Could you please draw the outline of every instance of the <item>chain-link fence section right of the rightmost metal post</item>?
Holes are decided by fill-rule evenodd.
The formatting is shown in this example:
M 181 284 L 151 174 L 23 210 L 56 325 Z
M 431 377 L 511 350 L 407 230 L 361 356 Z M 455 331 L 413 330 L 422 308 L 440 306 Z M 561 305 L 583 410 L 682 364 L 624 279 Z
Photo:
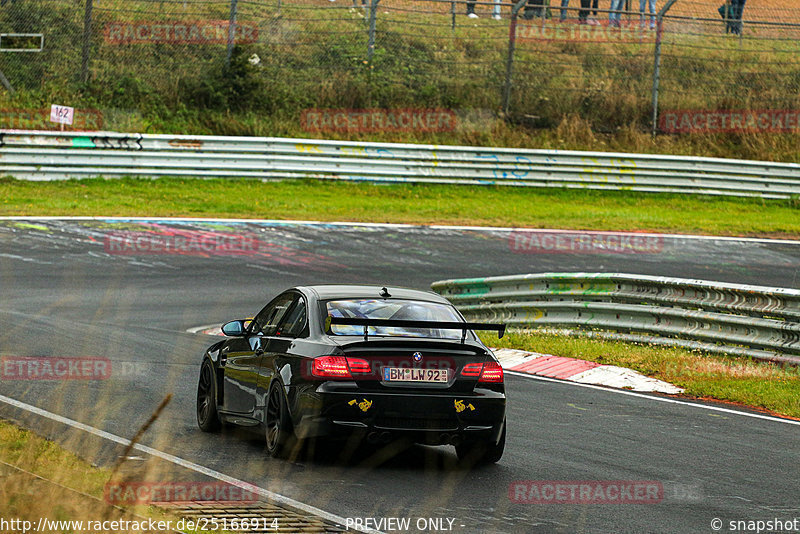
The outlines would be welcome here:
M 740 20 L 719 4 L 679 0 L 664 17 L 657 128 L 797 132 L 800 5 L 750 0 Z

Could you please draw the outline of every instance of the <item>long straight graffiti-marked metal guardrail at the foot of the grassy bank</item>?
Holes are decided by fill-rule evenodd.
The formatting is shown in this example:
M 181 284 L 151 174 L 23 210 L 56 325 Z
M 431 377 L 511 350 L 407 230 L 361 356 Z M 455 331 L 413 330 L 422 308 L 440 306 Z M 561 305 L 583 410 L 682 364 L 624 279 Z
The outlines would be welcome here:
M 317 178 L 788 198 L 800 165 L 652 154 L 272 137 L 0 131 L 0 174 Z

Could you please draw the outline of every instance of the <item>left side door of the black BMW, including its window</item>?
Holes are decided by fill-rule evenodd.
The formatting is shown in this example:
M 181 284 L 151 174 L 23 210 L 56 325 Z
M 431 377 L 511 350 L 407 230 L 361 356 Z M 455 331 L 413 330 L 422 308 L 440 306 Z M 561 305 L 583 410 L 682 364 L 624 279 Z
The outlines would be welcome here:
M 227 353 L 223 354 L 223 409 L 226 412 L 252 414 L 255 410 L 259 370 L 269 336 L 277 331 L 294 300 L 292 293 L 278 296 L 255 316 L 245 336 L 228 343 Z

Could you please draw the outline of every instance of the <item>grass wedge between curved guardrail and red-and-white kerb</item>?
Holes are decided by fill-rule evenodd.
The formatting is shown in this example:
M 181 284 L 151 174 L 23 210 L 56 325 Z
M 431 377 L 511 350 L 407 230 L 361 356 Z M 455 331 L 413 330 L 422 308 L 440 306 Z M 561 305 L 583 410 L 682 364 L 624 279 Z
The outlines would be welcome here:
M 481 335 L 489 346 L 580 358 L 618 365 L 664 380 L 692 397 L 712 398 L 800 418 L 800 368 L 707 354 L 674 347 L 509 332 L 503 339 Z

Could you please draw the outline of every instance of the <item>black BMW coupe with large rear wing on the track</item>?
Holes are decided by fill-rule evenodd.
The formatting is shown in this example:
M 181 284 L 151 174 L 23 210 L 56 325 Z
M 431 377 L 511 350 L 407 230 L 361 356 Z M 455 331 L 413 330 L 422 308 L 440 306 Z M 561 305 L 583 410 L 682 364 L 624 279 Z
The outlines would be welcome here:
M 203 356 L 197 423 L 261 427 L 271 456 L 305 439 L 363 436 L 453 445 L 497 462 L 506 439 L 503 369 L 434 293 L 319 285 L 284 291 L 222 326 Z

